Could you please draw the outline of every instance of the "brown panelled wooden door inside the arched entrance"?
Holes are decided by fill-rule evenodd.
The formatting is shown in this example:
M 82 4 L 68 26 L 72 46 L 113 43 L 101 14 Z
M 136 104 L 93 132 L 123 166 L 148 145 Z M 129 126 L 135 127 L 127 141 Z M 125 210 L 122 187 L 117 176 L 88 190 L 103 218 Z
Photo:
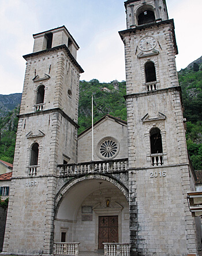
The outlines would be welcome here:
M 102 243 L 118 243 L 118 216 L 99 216 L 98 249 Z

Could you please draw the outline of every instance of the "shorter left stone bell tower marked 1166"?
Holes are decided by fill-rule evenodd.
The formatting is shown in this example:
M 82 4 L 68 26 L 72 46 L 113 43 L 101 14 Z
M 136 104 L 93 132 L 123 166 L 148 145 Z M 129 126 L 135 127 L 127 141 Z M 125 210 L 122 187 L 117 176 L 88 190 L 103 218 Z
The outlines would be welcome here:
M 21 101 L 4 254 L 51 254 L 57 164 L 77 161 L 78 45 L 63 27 L 33 35 Z

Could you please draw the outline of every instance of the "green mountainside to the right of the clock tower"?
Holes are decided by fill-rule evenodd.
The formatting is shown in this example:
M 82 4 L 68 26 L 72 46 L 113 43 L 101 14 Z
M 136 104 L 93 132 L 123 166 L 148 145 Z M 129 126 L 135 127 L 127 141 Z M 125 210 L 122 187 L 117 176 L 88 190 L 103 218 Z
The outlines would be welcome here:
M 202 57 L 178 72 L 182 87 L 186 142 L 195 170 L 202 169 Z

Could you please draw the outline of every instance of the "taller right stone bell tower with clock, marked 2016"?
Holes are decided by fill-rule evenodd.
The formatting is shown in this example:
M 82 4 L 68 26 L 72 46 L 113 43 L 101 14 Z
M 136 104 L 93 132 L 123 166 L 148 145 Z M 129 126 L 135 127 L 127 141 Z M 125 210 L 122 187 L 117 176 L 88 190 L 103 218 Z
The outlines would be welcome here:
M 165 0 L 125 2 L 130 256 L 197 255 L 174 21 Z

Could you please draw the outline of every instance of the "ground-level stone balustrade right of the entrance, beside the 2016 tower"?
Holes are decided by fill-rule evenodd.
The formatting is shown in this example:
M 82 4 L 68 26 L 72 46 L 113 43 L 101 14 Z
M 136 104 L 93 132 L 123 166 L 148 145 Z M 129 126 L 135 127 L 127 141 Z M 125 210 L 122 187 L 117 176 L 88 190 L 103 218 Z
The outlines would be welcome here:
M 104 255 L 107 256 L 129 256 L 129 243 L 103 243 Z

